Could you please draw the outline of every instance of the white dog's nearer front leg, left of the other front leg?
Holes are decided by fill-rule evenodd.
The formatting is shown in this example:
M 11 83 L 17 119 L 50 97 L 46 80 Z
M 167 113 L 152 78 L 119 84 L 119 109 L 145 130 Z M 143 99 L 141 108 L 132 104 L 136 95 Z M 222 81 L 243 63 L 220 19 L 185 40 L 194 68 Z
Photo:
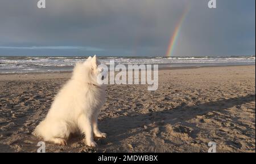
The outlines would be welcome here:
M 93 141 L 93 130 L 92 130 L 92 122 L 91 119 L 86 117 L 85 115 L 81 115 L 77 119 L 78 126 L 82 133 L 85 135 L 86 145 L 91 147 L 96 147 L 97 144 Z

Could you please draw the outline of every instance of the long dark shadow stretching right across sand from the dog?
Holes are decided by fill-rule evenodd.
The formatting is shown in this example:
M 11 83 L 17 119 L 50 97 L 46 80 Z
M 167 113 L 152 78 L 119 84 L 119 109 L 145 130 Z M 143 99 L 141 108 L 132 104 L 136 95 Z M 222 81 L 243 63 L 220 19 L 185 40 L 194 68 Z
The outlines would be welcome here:
M 239 108 L 240 105 L 251 101 L 255 101 L 255 94 L 247 94 L 247 96 L 202 103 L 195 106 L 187 106 L 183 104 L 174 109 L 152 111 L 151 113 L 146 114 L 130 114 L 126 116 L 118 116 L 117 118 L 103 118 L 99 120 L 99 126 L 102 131 L 108 133 L 108 139 L 106 139 L 105 143 L 100 143 L 99 146 L 100 149 L 108 149 L 109 146 L 119 145 L 120 141 L 144 131 L 145 129 L 143 127 L 145 126 L 147 127 L 146 131 L 152 130 L 155 127 L 148 126 L 152 123 L 159 127 L 166 126 L 167 124 L 174 125 L 176 123 L 186 125 L 188 124 L 186 123 L 187 120 L 196 118 L 200 115 L 205 115 L 210 111 L 216 111 L 227 115 L 229 113 L 225 109 L 233 106 Z M 238 118 L 230 116 L 229 119 L 237 121 Z M 192 124 L 190 124 L 190 126 L 191 125 Z M 132 132 L 135 128 L 138 129 L 135 132 Z M 186 129 L 181 127 L 178 131 L 185 132 Z M 192 138 L 195 138 L 199 131 L 199 127 L 195 127 L 195 130 L 189 135 Z

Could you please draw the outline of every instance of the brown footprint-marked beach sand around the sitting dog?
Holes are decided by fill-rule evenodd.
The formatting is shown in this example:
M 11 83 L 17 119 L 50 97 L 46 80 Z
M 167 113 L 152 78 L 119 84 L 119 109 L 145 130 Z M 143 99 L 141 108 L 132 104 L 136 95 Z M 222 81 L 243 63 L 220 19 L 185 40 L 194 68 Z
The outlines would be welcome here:
M 70 76 L 0 75 L 0 152 L 36 152 L 31 132 Z M 255 152 L 255 66 L 160 70 L 155 92 L 108 85 L 99 126 L 97 149 L 74 135 L 46 152 Z

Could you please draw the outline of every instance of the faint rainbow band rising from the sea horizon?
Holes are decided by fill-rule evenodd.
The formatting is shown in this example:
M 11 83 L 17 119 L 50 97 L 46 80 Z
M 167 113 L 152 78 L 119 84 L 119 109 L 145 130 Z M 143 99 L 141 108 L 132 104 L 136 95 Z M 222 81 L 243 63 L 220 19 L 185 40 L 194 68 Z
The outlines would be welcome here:
M 188 11 L 189 11 L 189 7 L 185 7 L 185 9 L 183 11 L 183 14 L 181 15 L 181 18 L 179 19 L 179 21 L 177 22 L 177 24 L 175 26 L 175 30 L 172 33 L 172 36 L 171 36 L 170 41 L 169 41 L 168 49 L 167 49 L 167 52 L 166 52 L 166 57 L 171 57 L 172 56 L 172 53 L 174 51 L 174 47 L 175 47 L 175 44 L 176 44 L 176 41 L 177 41 L 177 37 L 179 36 L 181 25 L 183 23 L 183 20 L 185 19 L 185 16 L 187 15 Z

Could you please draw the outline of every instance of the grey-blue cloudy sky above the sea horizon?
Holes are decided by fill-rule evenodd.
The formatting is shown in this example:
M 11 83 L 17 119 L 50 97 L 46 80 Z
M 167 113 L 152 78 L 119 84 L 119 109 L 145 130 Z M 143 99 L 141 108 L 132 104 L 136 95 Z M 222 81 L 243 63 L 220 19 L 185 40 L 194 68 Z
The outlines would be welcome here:
M 255 0 L 37 2 L 0 1 L 0 55 L 255 55 Z

